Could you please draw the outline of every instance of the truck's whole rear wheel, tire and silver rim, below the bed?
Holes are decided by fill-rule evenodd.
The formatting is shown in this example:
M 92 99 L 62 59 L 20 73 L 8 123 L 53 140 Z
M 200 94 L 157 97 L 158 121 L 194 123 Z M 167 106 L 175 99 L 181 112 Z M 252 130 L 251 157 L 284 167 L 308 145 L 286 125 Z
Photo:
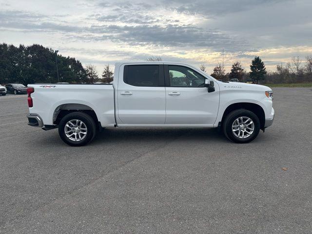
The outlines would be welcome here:
M 95 121 L 83 112 L 70 113 L 59 122 L 59 136 L 70 146 L 86 145 L 93 140 L 96 134 L 97 125 Z

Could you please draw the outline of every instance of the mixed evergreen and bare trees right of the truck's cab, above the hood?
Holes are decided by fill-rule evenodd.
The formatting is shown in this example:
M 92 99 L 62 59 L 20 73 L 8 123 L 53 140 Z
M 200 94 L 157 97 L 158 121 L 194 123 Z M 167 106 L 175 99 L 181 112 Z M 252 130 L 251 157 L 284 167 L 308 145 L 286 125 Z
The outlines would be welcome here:
M 201 64 L 199 67 L 206 72 L 206 66 Z M 279 64 L 275 71 L 266 71 L 264 62 L 255 57 L 250 65 L 250 72 L 247 72 L 239 61 L 232 64 L 231 72 L 226 73 L 225 68 L 221 63 L 218 63 L 212 77 L 228 81 L 232 78 L 237 78 L 239 81 L 246 82 L 247 79 L 254 79 L 256 83 L 302 83 L 312 82 L 312 56 L 306 57 L 303 62 L 300 57 L 292 57 L 290 62 Z

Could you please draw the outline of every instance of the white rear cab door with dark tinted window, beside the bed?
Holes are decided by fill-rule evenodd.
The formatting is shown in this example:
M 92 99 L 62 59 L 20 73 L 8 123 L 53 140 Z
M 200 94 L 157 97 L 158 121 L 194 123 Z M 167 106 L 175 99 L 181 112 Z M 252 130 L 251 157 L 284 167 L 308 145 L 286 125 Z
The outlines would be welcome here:
M 123 70 L 122 70 L 123 69 Z M 119 126 L 158 125 L 166 119 L 162 64 L 120 67 L 117 89 Z

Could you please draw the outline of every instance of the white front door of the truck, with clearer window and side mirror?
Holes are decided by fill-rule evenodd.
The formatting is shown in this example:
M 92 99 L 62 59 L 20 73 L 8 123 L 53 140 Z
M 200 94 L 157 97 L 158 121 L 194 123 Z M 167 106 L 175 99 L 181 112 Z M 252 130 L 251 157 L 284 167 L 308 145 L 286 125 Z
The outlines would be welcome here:
M 164 65 L 166 124 L 213 126 L 218 114 L 219 89 L 208 93 L 205 77 L 187 66 Z

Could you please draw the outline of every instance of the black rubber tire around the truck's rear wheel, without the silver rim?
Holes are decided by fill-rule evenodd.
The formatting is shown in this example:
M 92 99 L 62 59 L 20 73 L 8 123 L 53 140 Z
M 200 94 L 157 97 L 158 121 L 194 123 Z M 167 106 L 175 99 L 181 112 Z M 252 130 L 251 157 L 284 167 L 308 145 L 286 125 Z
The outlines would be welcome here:
M 87 127 L 87 136 L 80 141 L 73 141 L 66 137 L 64 127 L 66 123 L 72 119 L 78 119 L 84 122 Z M 64 116 L 59 122 L 59 136 L 61 139 L 70 146 L 83 146 L 89 143 L 96 135 L 96 124 L 92 117 L 82 112 L 74 112 Z

